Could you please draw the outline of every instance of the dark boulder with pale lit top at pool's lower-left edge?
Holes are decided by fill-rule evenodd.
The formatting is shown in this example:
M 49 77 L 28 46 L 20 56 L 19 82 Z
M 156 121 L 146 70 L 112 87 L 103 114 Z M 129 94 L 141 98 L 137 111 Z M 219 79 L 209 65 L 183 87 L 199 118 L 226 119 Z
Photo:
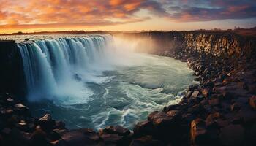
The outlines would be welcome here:
M 51 118 L 50 114 L 45 114 L 42 118 L 38 120 L 40 128 L 43 131 L 52 131 L 55 126 L 55 121 Z

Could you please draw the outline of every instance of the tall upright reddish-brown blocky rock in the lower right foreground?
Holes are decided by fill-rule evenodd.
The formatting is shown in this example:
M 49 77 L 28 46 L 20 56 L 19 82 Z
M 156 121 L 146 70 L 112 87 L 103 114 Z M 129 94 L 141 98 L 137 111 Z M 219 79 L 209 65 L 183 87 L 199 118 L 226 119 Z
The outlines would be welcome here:
M 192 120 L 190 126 L 190 137 L 193 144 L 199 145 L 207 142 L 208 135 L 204 120 L 200 118 Z

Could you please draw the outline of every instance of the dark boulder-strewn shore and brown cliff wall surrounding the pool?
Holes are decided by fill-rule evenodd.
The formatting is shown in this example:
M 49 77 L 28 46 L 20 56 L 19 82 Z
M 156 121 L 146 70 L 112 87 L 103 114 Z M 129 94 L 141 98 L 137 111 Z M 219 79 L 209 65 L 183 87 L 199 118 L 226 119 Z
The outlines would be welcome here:
M 200 84 L 179 104 L 154 111 L 133 131 L 109 126 L 68 130 L 50 115 L 33 118 L 20 99 L 1 94 L 2 145 L 256 145 L 256 42 L 229 32 L 113 34 L 154 53 L 187 61 Z M 12 47 L 10 47 L 12 49 Z M 12 54 L 12 53 L 10 53 Z M 2 54 L 1 54 L 2 55 Z M 8 61 L 5 59 L 4 61 Z M 10 72 L 7 68 L 6 72 Z M 6 73 L 7 74 L 7 73 Z M 10 91 L 12 92 L 12 91 Z

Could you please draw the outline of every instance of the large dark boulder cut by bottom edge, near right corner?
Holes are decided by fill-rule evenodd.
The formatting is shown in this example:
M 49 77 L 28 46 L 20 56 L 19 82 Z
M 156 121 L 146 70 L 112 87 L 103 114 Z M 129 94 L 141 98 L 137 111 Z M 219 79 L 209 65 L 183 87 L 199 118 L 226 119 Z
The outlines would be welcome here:
M 229 125 L 222 128 L 219 134 L 222 145 L 241 145 L 244 140 L 244 128 L 241 125 Z

